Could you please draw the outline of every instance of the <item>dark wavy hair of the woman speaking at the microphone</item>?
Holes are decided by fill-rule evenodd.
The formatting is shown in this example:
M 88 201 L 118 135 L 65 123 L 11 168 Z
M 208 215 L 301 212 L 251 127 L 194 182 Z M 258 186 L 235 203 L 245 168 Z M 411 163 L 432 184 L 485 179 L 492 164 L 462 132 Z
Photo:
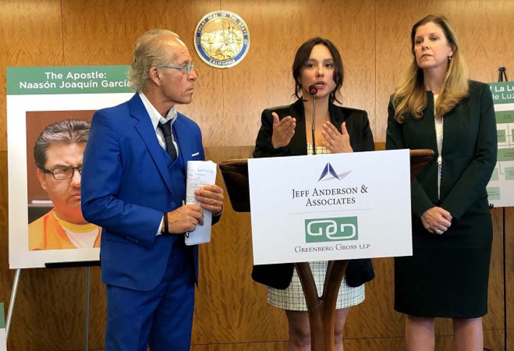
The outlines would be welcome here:
M 336 97 L 336 95 L 339 94 L 339 89 L 341 89 L 344 80 L 344 67 L 343 61 L 341 60 L 341 54 L 339 53 L 339 50 L 337 50 L 336 46 L 332 44 L 331 41 L 329 41 L 328 39 L 320 38 L 319 36 L 307 40 L 305 43 L 300 45 L 296 52 L 295 61 L 292 64 L 292 76 L 295 79 L 295 96 L 298 99 L 300 99 L 300 96 L 298 95 L 298 93 L 302 91 L 302 85 L 300 84 L 300 71 L 303 67 L 305 67 L 305 64 L 309 60 L 310 52 L 313 50 L 313 47 L 318 44 L 326 46 L 328 48 L 328 51 L 330 51 L 332 57 L 334 58 L 333 79 L 336 83 L 336 87 L 334 88 L 332 93 L 330 93 L 330 101 L 337 101 L 341 103 L 341 101 L 339 101 Z

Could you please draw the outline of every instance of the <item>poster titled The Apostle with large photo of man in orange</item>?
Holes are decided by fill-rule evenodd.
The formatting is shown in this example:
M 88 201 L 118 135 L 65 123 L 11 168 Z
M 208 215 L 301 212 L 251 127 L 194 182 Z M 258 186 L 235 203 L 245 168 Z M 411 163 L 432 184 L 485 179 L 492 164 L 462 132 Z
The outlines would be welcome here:
M 7 68 L 9 267 L 98 261 L 80 205 L 91 118 L 132 97 L 129 66 Z

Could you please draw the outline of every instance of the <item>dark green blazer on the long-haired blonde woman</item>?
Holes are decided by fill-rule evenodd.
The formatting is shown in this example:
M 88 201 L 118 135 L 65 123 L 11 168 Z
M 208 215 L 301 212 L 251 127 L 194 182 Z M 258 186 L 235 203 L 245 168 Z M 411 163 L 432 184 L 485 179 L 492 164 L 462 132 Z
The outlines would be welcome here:
M 394 106 L 389 102 L 386 149 L 433 150 L 434 159 L 411 182 L 412 213 L 420 217 L 429 208 L 440 206 L 458 220 L 477 201 L 487 201 L 486 185 L 498 152 L 491 90 L 485 83 L 470 81 L 468 97 L 444 116 L 440 200 L 434 96 L 431 91 L 427 96 L 423 117 L 416 119 L 407 114 L 403 123 L 394 119 Z

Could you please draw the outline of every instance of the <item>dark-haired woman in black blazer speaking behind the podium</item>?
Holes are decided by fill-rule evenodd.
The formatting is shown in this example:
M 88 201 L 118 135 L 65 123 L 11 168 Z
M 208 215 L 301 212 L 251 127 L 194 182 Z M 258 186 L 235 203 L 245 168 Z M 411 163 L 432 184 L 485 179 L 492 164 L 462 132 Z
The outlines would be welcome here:
M 343 64 L 337 48 L 328 40 L 313 38 L 298 49 L 292 67 L 298 100 L 287 106 L 267 108 L 255 141 L 253 157 L 307 155 L 313 153 L 311 136 L 313 97 L 316 106 L 317 153 L 375 150 L 368 114 L 363 110 L 336 106 L 343 83 Z M 309 133 L 306 133 L 306 131 Z M 320 145 L 320 146 L 318 146 Z M 318 293 L 323 291 L 326 262 L 311 262 Z M 268 303 L 285 310 L 289 323 L 288 350 L 310 350 L 310 331 L 303 290 L 292 264 L 254 266 L 252 278 L 265 284 Z M 339 290 L 336 311 L 336 350 L 342 350 L 344 323 L 350 307 L 364 300 L 364 283 L 374 278 L 371 260 L 352 260 Z

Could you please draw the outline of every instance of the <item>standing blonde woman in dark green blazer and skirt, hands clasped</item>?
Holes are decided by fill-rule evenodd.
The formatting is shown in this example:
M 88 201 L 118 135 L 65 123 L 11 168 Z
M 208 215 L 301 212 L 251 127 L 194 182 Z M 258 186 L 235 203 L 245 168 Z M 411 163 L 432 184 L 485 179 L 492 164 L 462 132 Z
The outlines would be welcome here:
M 453 319 L 457 349 L 482 350 L 496 164 L 491 91 L 468 81 L 455 33 L 429 15 L 412 28 L 413 61 L 389 103 L 386 149 L 432 149 L 411 182 L 413 256 L 395 258 L 395 309 L 409 350 L 434 348 L 434 317 Z

